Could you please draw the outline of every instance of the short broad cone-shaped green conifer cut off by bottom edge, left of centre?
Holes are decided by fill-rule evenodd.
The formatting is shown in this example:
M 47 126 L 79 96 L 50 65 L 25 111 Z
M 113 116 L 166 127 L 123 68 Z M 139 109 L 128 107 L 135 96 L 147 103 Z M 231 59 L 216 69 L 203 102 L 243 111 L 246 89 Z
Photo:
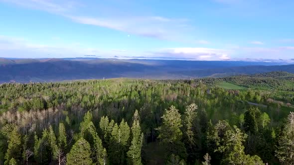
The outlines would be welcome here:
M 66 165 L 92 165 L 90 144 L 80 138 L 67 154 Z

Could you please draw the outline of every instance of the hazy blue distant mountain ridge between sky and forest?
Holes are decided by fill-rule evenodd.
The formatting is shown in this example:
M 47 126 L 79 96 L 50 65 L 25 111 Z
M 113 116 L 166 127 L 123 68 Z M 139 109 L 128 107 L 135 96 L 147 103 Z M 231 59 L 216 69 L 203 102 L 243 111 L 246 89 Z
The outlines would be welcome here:
M 252 75 L 273 71 L 294 73 L 294 65 L 277 64 L 279 63 L 100 58 L 0 59 L 0 83 L 55 82 L 122 77 L 191 79 Z M 272 73 L 272 75 L 275 75 L 275 73 Z

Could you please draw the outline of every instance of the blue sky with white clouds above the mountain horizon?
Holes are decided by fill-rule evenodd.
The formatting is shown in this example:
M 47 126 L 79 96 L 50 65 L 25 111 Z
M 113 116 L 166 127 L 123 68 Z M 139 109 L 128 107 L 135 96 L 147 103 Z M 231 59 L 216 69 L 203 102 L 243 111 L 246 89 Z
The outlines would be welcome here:
M 0 57 L 294 61 L 294 0 L 0 0 Z

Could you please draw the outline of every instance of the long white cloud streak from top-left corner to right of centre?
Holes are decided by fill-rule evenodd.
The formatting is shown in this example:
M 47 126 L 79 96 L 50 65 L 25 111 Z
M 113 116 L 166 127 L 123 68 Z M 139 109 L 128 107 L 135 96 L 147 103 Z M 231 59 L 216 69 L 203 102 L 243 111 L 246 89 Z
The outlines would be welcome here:
M 58 14 L 71 19 L 74 22 L 95 25 L 105 28 L 110 28 L 118 31 L 127 32 L 130 34 L 177 40 L 183 33 L 190 29 L 187 19 L 167 18 L 158 15 L 138 15 L 138 13 L 121 14 L 115 6 L 108 6 L 115 9 L 116 12 L 101 10 L 96 15 L 75 11 L 77 8 L 82 8 L 82 4 L 78 4 L 72 0 L 0 0 L 3 2 L 13 3 L 23 7 L 43 10 L 46 12 Z M 101 7 L 101 6 L 100 6 Z M 138 16 L 130 16 L 138 15 Z

